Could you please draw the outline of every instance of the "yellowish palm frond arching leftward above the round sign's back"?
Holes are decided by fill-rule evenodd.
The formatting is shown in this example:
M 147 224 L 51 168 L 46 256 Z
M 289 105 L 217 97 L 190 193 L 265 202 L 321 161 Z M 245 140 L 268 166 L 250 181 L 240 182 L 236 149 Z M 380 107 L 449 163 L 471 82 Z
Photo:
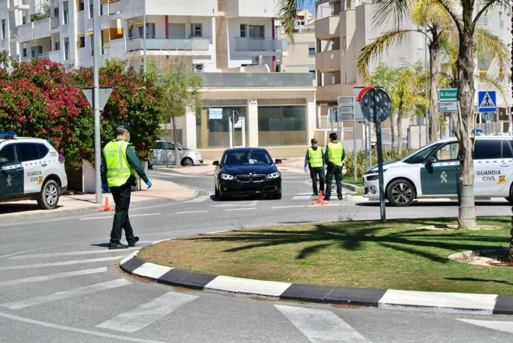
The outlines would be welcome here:
M 394 44 L 401 44 L 408 32 L 418 32 L 416 30 L 392 30 L 385 32 L 376 38 L 376 41 L 367 44 L 362 48 L 357 56 L 357 68 L 362 78 L 366 81 L 370 80 L 369 62 L 380 56 L 384 50 Z

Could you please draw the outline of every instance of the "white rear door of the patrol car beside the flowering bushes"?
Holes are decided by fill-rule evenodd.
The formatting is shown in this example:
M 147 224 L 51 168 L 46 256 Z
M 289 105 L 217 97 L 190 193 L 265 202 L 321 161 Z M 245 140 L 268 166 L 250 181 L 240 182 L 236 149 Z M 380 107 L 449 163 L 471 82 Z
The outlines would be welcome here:
M 39 193 L 48 163 L 43 163 L 37 143 L 16 143 L 16 156 L 24 169 L 24 193 Z

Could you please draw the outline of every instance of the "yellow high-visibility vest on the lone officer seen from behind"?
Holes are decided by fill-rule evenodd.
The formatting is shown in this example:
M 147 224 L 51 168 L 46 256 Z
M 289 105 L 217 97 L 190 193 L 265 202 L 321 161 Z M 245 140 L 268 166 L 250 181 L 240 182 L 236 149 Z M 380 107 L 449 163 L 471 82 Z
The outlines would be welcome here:
M 134 173 L 127 160 L 126 140 L 112 140 L 103 148 L 103 156 L 107 165 L 107 185 L 122 186 Z

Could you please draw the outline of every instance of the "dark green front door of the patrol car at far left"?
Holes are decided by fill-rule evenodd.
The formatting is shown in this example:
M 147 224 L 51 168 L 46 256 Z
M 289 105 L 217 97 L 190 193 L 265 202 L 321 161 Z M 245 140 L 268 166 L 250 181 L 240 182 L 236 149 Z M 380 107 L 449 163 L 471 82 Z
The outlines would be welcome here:
M 23 194 L 24 173 L 21 163 L 16 161 L 14 144 L 4 145 L 0 157 L 8 162 L 0 165 L 0 198 L 9 199 Z

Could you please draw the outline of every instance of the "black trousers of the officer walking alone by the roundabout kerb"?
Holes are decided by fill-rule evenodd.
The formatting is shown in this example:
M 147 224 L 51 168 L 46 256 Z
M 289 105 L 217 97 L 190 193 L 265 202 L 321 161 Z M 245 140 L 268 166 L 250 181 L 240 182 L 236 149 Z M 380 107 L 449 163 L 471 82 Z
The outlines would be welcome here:
M 112 231 L 110 232 L 111 241 L 120 241 L 122 230 L 125 229 L 125 237 L 127 240 L 133 239 L 133 229 L 128 219 L 128 207 L 130 206 L 130 195 L 132 186 L 129 181 L 119 187 L 110 187 L 114 203 L 116 203 L 116 213 L 114 214 L 114 222 L 112 223 Z

